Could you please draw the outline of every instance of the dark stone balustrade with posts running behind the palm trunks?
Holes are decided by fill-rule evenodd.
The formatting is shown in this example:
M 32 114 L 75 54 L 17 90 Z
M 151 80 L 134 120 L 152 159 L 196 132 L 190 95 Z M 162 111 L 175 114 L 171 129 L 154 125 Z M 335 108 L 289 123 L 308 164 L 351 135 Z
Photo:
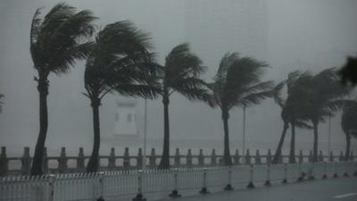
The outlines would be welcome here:
M 238 150 L 232 155 L 234 164 L 267 164 L 271 163 L 272 152 L 270 149 L 266 154 L 261 155 L 260 150 L 256 150 L 254 155 L 250 154 L 249 149 L 246 150 L 245 155 L 239 155 Z M 150 155 L 144 156 L 142 149 L 139 148 L 137 155 L 129 155 L 129 148 L 126 147 L 123 155 L 115 155 L 114 148 L 111 149 L 109 155 L 99 156 L 100 171 L 121 171 L 121 170 L 140 170 L 143 168 L 155 169 L 159 163 L 161 155 L 155 154 L 155 149 L 152 148 Z M 203 150 L 200 149 L 196 155 L 192 154 L 191 149 L 187 150 L 186 155 L 176 149 L 175 155 L 170 155 L 170 164 L 172 167 L 210 167 L 222 164 L 222 155 L 216 155 L 215 149 L 212 149 L 211 155 L 203 155 Z M 293 156 L 296 163 L 311 163 L 312 153 L 308 155 L 300 151 L 298 155 Z M 84 155 L 83 147 L 79 147 L 79 155 L 69 156 L 66 155 L 65 147 L 62 147 L 60 156 L 48 156 L 46 149 L 44 152 L 43 170 L 46 173 L 65 173 L 65 172 L 85 172 L 85 164 L 89 156 Z M 319 162 L 335 162 L 345 161 L 345 155 L 340 152 L 339 155 L 334 155 L 333 152 L 323 153 L 320 151 Z M 349 160 L 353 161 L 354 156 L 351 152 Z M 289 163 L 291 157 L 289 155 L 281 155 L 280 163 Z M 7 174 L 29 174 L 32 157 L 29 155 L 29 147 L 24 147 L 23 155 L 21 157 L 8 157 L 6 155 L 6 147 L 1 147 L 0 153 L 0 176 Z

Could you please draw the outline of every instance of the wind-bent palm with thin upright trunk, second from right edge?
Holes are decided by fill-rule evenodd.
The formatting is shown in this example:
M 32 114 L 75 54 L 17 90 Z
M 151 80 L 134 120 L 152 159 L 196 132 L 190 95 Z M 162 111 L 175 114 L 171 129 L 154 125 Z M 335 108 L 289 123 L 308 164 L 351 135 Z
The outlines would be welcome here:
M 330 68 L 314 75 L 310 87 L 305 90 L 308 118 L 313 126 L 313 161 L 318 161 L 319 124 L 326 118 L 334 116 L 345 104 L 342 98 L 347 96 L 350 88 L 340 85 L 335 68 Z

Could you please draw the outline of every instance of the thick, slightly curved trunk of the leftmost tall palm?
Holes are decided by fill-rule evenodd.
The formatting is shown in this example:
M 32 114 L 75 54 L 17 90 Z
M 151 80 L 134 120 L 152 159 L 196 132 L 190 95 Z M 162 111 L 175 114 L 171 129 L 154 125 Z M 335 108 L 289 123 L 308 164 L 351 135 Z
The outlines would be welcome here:
M 48 80 L 38 80 L 37 90 L 39 93 L 39 132 L 35 147 L 35 154 L 32 161 L 31 175 L 41 175 L 46 134 L 48 128 L 47 96 Z

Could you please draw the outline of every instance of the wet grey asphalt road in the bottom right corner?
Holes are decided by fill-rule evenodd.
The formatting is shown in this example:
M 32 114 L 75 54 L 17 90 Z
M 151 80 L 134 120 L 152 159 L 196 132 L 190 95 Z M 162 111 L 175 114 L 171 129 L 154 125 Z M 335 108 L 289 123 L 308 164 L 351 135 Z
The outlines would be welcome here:
M 172 199 L 167 199 L 172 200 Z M 311 180 L 288 185 L 240 189 L 175 201 L 356 201 L 357 177 Z

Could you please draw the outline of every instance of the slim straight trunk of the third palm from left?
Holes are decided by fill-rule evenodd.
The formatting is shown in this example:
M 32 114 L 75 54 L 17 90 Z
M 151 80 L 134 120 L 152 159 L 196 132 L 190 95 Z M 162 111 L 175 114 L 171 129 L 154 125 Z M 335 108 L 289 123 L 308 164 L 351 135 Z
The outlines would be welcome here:
M 159 169 L 170 168 L 170 122 L 169 122 L 169 97 L 162 97 L 163 104 L 163 148 Z

